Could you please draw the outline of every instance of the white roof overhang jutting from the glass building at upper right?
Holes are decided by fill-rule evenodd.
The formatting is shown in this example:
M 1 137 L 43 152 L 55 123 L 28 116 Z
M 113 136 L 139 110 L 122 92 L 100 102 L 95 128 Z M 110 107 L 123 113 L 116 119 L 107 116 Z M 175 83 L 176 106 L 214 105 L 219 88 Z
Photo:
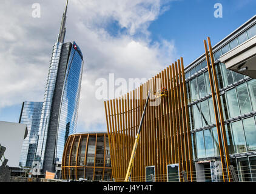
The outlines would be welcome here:
M 226 69 L 256 78 L 256 36 L 222 55 L 220 62 Z

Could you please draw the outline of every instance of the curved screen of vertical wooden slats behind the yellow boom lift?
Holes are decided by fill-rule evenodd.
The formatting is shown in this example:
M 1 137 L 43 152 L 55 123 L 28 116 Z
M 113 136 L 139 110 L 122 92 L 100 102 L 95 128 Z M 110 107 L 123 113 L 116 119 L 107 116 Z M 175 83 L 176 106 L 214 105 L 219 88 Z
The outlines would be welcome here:
M 155 98 L 161 88 L 167 96 Z M 146 167 L 155 166 L 156 181 L 167 181 L 167 165 L 179 164 L 181 172 L 193 181 L 192 144 L 187 107 L 183 58 L 121 98 L 105 101 L 107 135 L 111 140 L 112 176 L 124 181 L 135 136 L 148 91 L 149 105 L 135 154 L 132 181 L 146 181 Z

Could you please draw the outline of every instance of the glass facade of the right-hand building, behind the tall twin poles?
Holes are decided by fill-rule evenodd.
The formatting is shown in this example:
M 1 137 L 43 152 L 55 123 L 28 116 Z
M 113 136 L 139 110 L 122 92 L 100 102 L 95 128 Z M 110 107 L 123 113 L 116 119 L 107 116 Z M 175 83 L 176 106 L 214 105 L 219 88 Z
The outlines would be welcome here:
M 214 47 L 214 60 L 256 35 L 256 21 Z M 217 48 L 217 49 L 215 49 Z M 186 67 L 194 160 L 220 160 L 214 105 L 205 56 Z M 231 164 L 240 181 L 256 181 L 256 79 L 216 65 Z

